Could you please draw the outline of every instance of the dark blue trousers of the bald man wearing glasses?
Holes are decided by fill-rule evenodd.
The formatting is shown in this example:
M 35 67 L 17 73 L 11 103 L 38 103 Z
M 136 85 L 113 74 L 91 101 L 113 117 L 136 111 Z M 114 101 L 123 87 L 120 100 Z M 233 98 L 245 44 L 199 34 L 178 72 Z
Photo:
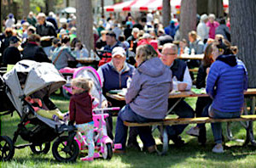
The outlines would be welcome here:
M 170 99 L 172 100 L 172 99 Z M 172 100 L 173 102 L 173 100 Z M 172 107 L 172 104 L 169 103 L 169 109 Z M 187 104 L 185 101 L 180 101 L 176 107 L 173 109 L 173 113 L 175 115 L 178 115 L 179 118 L 194 118 L 195 112 L 194 109 L 192 109 L 189 104 Z M 179 134 L 183 132 L 185 127 L 188 126 L 187 124 L 183 125 L 175 125 L 175 126 L 166 126 L 166 131 L 168 134 L 168 137 L 177 137 Z

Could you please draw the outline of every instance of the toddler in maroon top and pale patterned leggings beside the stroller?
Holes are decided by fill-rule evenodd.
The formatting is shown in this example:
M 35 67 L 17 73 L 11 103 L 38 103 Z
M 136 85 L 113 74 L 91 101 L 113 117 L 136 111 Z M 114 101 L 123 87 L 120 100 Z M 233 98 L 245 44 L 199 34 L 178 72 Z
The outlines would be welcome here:
M 74 78 L 71 82 L 73 96 L 70 98 L 69 117 L 71 121 L 76 122 L 78 128 L 77 138 L 82 144 L 88 144 L 88 156 L 81 160 L 91 161 L 94 155 L 93 130 L 94 122 L 92 120 L 92 101 L 90 89 L 93 86 L 93 81 L 84 78 Z M 82 137 L 85 136 L 85 140 Z

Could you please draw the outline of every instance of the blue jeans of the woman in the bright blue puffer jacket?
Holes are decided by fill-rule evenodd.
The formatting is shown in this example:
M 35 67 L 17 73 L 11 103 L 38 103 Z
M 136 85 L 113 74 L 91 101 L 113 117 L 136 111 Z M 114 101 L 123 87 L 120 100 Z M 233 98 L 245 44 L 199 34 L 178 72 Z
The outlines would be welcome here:
M 203 117 L 211 117 L 213 119 L 229 119 L 229 118 L 239 118 L 241 112 L 231 112 L 231 113 L 224 113 L 217 109 L 212 108 L 212 104 L 208 105 L 208 108 L 205 108 L 203 111 L 202 116 Z M 211 123 L 212 126 L 212 133 L 214 137 L 215 143 L 222 143 L 222 128 L 221 128 L 221 122 L 214 122 Z

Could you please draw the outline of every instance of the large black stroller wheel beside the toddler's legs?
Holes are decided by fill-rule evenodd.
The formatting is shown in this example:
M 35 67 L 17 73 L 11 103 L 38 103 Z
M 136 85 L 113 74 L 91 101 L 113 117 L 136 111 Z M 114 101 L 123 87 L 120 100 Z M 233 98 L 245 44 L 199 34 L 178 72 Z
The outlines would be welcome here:
M 79 145 L 72 141 L 70 147 L 67 146 L 68 137 L 59 137 L 52 146 L 52 154 L 55 159 L 61 162 L 75 161 L 79 155 Z

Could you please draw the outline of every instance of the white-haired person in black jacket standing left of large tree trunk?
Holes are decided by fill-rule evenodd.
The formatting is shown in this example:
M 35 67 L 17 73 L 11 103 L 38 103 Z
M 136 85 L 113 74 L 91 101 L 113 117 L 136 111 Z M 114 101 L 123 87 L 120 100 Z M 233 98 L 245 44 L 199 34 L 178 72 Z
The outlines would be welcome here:
M 41 46 L 44 48 L 44 52 L 49 55 L 49 49 L 51 47 L 51 43 L 53 37 L 56 37 L 55 26 L 46 21 L 46 16 L 44 13 L 38 14 L 38 25 L 37 25 L 37 34 L 41 37 L 44 36 L 44 40 L 41 42 Z M 42 39 L 41 39 L 42 40 Z

